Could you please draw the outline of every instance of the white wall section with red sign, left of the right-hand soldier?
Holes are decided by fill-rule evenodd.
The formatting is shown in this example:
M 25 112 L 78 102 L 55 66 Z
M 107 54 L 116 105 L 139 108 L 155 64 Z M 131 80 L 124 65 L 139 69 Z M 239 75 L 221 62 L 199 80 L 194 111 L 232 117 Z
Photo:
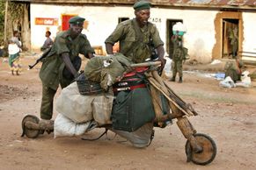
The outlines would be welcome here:
M 47 12 L 45 12 L 47 11 Z M 125 12 L 124 12 L 125 11 Z M 83 30 L 91 46 L 105 46 L 104 41 L 118 24 L 118 18 L 133 18 L 134 11 L 128 7 L 95 7 L 95 6 L 62 6 L 31 4 L 31 37 L 32 48 L 40 48 L 49 28 L 51 37 L 55 38 L 58 25 L 35 25 L 35 18 L 58 18 L 62 25 L 62 14 L 73 14 L 84 17 L 89 22 L 88 29 Z

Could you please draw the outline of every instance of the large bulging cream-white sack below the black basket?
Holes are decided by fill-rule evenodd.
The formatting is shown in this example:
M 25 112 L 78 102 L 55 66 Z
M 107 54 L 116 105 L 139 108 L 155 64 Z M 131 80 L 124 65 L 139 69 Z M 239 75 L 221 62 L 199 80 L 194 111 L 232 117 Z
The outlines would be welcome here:
M 62 89 L 56 99 L 56 110 L 76 123 L 90 121 L 93 118 L 91 103 L 94 97 L 80 95 L 75 81 Z

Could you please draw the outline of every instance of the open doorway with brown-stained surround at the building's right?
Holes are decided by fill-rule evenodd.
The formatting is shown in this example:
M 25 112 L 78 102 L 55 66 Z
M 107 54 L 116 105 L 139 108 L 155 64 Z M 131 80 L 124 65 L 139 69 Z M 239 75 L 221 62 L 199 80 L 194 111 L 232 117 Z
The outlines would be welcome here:
M 223 47 L 222 58 L 232 58 L 232 39 L 238 38 L 239 44 L 239 19 L 223 18 Z M 238 49 L 237 53 L 238 54 Z

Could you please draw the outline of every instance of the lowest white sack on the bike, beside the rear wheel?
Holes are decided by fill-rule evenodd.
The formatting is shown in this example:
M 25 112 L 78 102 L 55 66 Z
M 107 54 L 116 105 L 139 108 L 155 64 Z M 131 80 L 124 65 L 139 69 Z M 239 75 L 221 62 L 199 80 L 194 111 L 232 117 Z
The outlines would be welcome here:
M 86 131 L 91 131 L 97 126 L 96 123 L 88 121 L 84 124 L 76 124 L 68 117 L 58 114 L 55 119 L 55 138 L 73 137 L 83 135 Z

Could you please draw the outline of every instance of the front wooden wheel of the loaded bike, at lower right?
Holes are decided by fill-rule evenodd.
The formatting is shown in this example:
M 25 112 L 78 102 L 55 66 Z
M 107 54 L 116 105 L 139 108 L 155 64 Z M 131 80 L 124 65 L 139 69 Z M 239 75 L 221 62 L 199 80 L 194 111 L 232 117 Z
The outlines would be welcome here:
M 187 154 L 187 161 L 192 160 L 194 164 L 205 166 L 212 162 L 216 157 L 216 143 L 206 134 L 195 133 L 194 138 L 202 147 L 201 152 L 193 152 L 190 142 L 187 140 L 185 151 Z

